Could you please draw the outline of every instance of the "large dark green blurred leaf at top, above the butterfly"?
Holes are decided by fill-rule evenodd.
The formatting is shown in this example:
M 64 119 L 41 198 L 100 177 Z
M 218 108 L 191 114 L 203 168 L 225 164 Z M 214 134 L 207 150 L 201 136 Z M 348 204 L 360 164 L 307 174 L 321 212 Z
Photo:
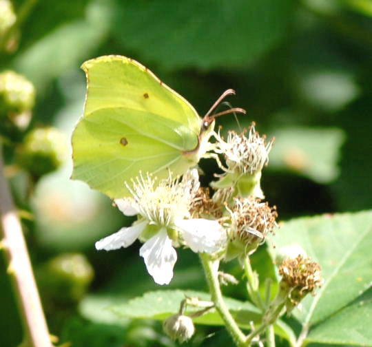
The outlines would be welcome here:
M 293 3 L 127 0 L 116 11 L 114 30 L 125 50 L 168 70 L 246 67 L 285 38 Z

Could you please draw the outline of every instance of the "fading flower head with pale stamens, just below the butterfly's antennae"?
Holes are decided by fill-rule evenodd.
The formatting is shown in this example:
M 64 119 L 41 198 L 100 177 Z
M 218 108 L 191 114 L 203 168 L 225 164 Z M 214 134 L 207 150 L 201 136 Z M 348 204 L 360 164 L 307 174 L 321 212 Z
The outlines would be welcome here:
M 225 174 L 211 186 L 218 189 L 235 187 L 238 196 L 264 198 L 260 188 L 261 171 L 269 162 L 273 139 L 266 143 L 266 136 L 256 132 L 255 123 L 249 128 L 248 137 L 246 133 L 246 129 L 241 134 L 231 131 L 227 141 L 215 134 L 217 143 L 214 151 L 225 156 L 227 167 L 221 165 Z

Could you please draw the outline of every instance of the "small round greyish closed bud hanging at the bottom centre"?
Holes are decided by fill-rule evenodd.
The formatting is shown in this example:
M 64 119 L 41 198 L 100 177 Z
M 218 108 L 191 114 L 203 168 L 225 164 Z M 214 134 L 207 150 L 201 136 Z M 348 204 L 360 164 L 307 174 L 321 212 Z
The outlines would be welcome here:
M 186 315 L 172 315 L 165 319 L 163 323 L 164 332 L 174 341 L 178 340 L 181 344 L 192 338 L 195 333 L 192 319 Z

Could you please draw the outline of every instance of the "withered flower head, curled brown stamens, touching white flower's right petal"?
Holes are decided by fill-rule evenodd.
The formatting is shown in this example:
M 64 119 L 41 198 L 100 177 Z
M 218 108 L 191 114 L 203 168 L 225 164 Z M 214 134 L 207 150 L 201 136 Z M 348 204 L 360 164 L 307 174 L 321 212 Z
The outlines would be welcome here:
M 277 227 L 276 207 L 269 207 L 267 202 L 260 202 L 259 199 L 236 198 L 234 207 L 229 212 L 231 215 L 230 243 L 226 260 L 253 253 L 265 240 L 267 234 Z

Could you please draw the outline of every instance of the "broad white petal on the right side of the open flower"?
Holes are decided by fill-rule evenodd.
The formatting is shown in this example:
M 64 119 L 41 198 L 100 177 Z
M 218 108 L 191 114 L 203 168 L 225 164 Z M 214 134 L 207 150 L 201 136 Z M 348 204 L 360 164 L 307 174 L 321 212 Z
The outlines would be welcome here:
M 182 231 L 185 244 L 194 252 L 214 253 L 225 246 L 225 229 L 216 220 L 178 220 L 176 226 Z

